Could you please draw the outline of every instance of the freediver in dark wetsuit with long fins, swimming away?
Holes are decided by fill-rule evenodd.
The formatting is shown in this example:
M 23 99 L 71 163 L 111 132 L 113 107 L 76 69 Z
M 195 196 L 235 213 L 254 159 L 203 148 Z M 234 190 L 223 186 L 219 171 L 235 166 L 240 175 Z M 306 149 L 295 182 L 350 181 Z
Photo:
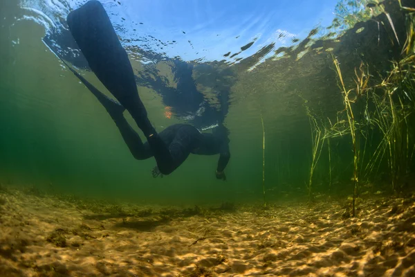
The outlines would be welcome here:
M 89 1 L 84 6 L 69 13 L 69 29 L 91 70 L 118 102 L 107 98 L 90 82 L 68 66 L 75 76 L 98 98 L 116 123 L 122 138 L 133 157 L 139 160 L 154 157 L 157 166 L 153 176 L 169 175 L 192 154 L 220 154 L 216 168 L 216 178 L 225 180 L 225 169 L 230 159 L 228 137 L 221 132 L 201 133 L 188 124 L 175 124 L 157 133 L 151 125 L 147 111 L 142 104 L 127 52 L 122 48 L 116 32 L 99 1 Z M 131 128 L 123 116 L 127 109 L 147 142 Z M 162 175 L 162 176 L 163 176 Z

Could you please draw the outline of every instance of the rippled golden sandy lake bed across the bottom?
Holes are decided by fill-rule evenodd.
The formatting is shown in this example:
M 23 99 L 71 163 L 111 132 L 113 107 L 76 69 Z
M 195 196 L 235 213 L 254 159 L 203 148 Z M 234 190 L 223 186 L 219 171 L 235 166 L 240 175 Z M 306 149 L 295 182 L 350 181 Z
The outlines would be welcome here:
M 0 276 L 415 276 L 415 197 L 221 209 L 0 192 Z

